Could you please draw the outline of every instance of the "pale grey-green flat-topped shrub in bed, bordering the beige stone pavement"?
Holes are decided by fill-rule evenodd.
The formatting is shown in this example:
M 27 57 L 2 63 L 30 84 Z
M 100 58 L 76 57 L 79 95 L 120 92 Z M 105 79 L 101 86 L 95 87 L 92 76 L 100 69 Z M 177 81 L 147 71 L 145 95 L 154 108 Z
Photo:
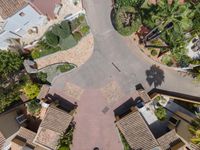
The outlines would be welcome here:
M 62 50 L 66 50 L 66 49 L 74 47 L 76 44 L 77 44 L 77 41 L 74 39 L 72 35 L 70 35 L 65 39 L 61 39 L 59 45 Z

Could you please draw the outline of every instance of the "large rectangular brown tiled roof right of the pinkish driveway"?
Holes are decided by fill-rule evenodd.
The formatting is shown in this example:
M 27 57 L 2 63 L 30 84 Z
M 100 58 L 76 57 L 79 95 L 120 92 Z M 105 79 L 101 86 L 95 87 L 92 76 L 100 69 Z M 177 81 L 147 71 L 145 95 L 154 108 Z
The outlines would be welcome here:
M 159 146 L 139 112 L 126 115 L 116 125 L 132 149 L 150 150 Z

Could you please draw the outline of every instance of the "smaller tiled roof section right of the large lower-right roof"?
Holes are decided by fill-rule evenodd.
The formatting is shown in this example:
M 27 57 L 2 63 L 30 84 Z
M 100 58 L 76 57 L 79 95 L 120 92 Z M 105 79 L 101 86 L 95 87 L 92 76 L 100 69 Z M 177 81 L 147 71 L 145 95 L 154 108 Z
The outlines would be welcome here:
M 157 139 L 163 150 L 169 149 L 170 145 L 177 140 L 179 140 L 179 137 L 177 136 L 175 130 L 171 130 Z

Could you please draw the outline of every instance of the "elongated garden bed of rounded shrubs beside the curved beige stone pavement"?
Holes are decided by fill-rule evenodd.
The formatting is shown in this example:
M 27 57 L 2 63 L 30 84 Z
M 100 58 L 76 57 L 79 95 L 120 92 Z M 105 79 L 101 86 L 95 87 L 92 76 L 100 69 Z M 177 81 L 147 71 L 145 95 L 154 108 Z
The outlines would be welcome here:
M 49 28 L 43 38 L 32 49 L 33 59 L 70 49 L 89 33 L 85 16 L 82 14 L 72 21 L 64 20 Z

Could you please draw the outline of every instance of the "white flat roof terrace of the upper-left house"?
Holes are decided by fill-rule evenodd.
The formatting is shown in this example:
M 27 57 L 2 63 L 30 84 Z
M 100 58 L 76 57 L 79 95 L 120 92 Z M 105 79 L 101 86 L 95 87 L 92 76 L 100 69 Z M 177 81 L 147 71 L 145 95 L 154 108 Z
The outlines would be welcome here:
M 22 12 L 24 16 L 20 16 Z M 0 34 L 0 48 L 7 48 L 8 43 L 6 39 L 8 38 L 24 38 L 28 29 L 43 24 L 45 18 L 45 16 L 40 15 L 30 5 L 27 5 L 15 15 L 7 18 L 5 20 L 4 32 Z

